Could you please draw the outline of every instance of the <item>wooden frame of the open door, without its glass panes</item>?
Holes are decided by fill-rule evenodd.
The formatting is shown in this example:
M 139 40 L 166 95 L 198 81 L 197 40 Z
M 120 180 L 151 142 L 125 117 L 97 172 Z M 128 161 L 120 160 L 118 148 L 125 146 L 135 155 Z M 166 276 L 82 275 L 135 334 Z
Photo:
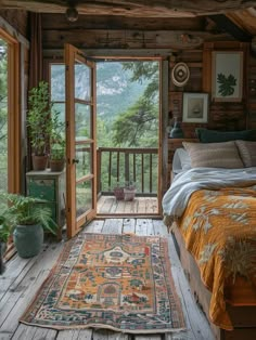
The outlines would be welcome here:
M 65 44 L 65 64 L 66 65 L 75 65 L 75 62 L 81 62 L 85 63 L 86 56 L 76 49 L 75 47 L 71 44 Z M 75 103 L 77 102 L 75 100 L 74 91 L 75 89 L 75 75 L 74 71 L 72 71 L 66 66 L 65 71 L 65 82 L 66 84 L 69 84 L 69 87 L 66 86 L 66 156 L 67 156 L 67 162 L 66 162 L 66 223 L 67 223 L 67 237 L 71 238 L 79 231 L 79 228 L 88 222 L 90 219 L 92 219 L 95 215 L 97 211 L 97 148 L 95 148 L 95 67 L 93 63 L 88 63 L 86 61 L 86 65 L 91 68 L 91 83 L 90 89 L 93 96 L 91 97 L 90 102 L 86 103 L 90 107 L 90 115 L 91 115 L 91 125 L 92 125 L 92 139 L 89 141 L 85 141 L 85 143 L 76 143 L 75 141 L 75 114 L 68 115 L 74 107 Z M 85 104 L 85 101 L 82 101 Z M 88 179 L 88 182 L 91 181 L 92 183 L 92 207 L 89 211 L 86 211 L 81 215 L 76 215 L 76 185 L 73 185 L 74 183 L 77 184 L 76 179 L 76 168 L 74 167 L 73 160 L 76 157 L 75 146 L 76 144 L 88 144 L 91 145 L 91 153 L 92 153 L 92 171 L 90 175 L 84 176 Z

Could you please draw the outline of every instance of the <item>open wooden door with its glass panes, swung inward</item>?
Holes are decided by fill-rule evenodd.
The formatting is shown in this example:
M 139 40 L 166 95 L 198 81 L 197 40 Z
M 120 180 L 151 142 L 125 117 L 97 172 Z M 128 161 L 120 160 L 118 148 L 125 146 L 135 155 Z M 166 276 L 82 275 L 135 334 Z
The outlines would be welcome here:
M 97 213 L 95 67 L 65 44 L 67 237 Z

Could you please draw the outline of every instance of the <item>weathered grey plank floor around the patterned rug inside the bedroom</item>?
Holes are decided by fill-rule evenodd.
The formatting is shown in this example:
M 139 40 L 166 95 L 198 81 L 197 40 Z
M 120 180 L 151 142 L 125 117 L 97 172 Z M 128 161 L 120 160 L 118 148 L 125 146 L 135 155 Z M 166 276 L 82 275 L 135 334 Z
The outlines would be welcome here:
M 46 245 L 41 253 L 33 259 L 15 256 L 8 262 L 7 271 L 0 276 L 0 340 L 213 340 L 213 334 L 190 293 L 177 257 L 171 236 L 159 220 L 107 219 L 91 222 L 87 232 L 103 234 L 136 233 L 138 235 L 166 235 L 169 239 L 171 272 L 177 292 L 181 298 L 187 330 L 166 335 L 127 335 L 110 330 L 54 330 L 18 324 L 18 317 L 48 276 L 64 241 Z

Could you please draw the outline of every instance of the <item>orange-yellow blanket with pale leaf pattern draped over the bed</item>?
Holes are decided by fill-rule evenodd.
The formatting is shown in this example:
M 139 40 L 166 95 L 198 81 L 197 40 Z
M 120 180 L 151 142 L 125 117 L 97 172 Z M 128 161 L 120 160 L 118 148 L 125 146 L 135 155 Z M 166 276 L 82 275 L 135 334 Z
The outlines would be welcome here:
M 179 225 L 213 292 L 212 322 L 231 330 L 226 301 L 256 305 L 256 185 L 193 193 Z

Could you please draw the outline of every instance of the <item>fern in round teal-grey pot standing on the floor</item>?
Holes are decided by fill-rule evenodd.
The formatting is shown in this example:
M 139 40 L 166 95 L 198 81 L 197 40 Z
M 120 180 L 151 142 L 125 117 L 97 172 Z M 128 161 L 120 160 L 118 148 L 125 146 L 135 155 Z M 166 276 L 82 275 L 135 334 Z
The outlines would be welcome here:
M 10 206 L 2 212 L 8 225 L 13 230 L 13 240 L 21 258 L 31 258 L 39 253 L 43 243 L 43 230 L 56 234 L 57 224 L 52 219 L 46 200 L 17 194 L 0 195 Z

